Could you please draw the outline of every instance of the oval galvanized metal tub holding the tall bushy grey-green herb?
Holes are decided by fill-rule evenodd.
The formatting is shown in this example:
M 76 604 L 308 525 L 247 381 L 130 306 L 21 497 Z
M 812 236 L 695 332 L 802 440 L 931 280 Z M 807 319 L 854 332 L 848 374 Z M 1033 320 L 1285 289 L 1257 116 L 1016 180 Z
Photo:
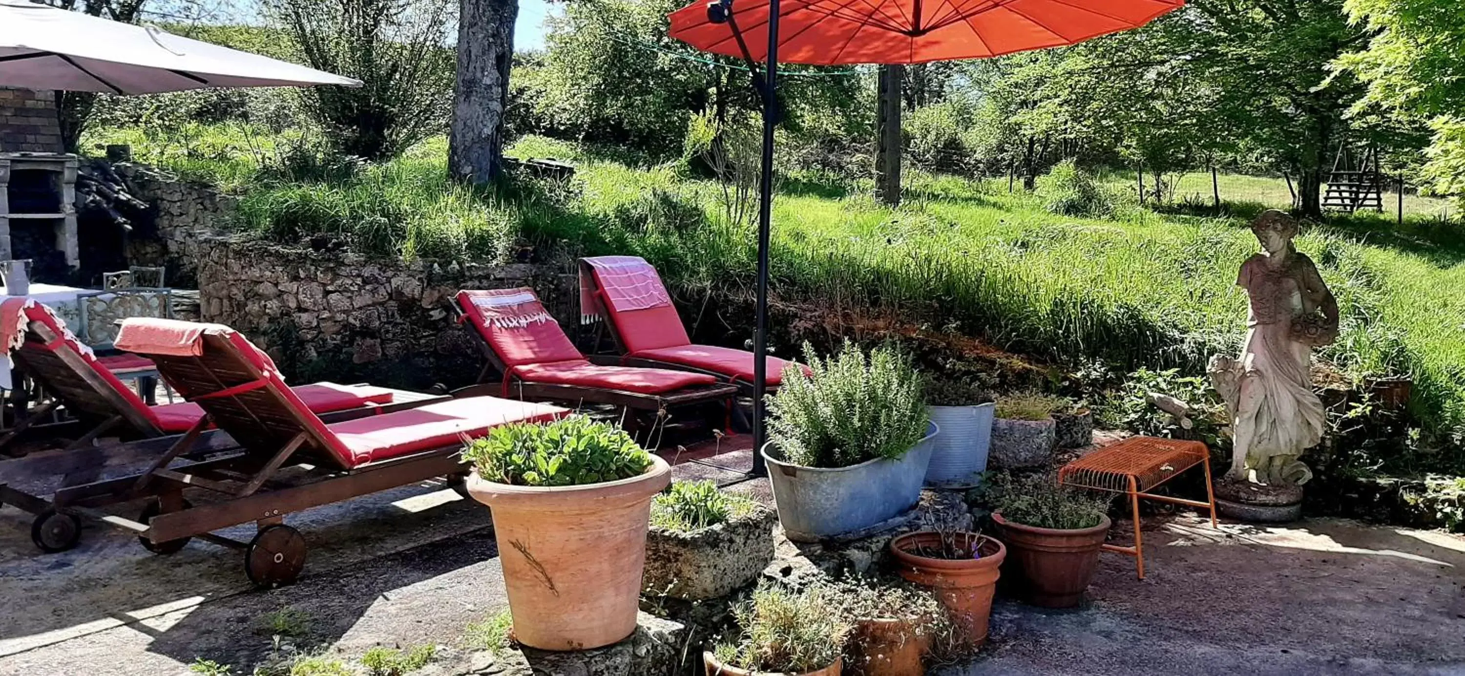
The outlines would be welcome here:
M 791 465 L 772 443 L 765 444 L 768 481 L 784 534 L 795 543 L 815 543 L 870 528 L 911 509 L 920 500 L 939 431 L 930 422 L 926 437 L 898 460 L 876 458 L 835 469 Z

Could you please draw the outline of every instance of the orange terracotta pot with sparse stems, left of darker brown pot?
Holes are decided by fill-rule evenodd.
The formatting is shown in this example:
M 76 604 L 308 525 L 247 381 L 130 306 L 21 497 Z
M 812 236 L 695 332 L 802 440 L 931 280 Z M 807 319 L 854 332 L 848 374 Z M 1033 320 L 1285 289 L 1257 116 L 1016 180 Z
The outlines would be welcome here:
M 919 545 L 936 545 L 941 535 L 935 531 L 917 531 L 891 540 L 891 554 L 895 556 L 901 578 L 936 591 L 936 598 L 951 611 L 951 619 L 967 632 L 973 645 L 987 641 L 987 620 L 992 616 L 992 594 L 996 591 L 999 566 L 1006 559 L 1006 547 L 986 535 L 964 532 L 965 544 L 980 538 L 980 559 L 927 559 L 913 554 Z

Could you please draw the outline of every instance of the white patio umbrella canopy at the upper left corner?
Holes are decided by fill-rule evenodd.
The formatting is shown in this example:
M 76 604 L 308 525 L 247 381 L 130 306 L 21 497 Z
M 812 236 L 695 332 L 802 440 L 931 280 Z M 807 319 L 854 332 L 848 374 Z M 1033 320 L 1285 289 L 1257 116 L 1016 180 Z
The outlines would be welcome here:
M 157 94 L 360 81 L 81 12 L 0 0 L 0 87 Z

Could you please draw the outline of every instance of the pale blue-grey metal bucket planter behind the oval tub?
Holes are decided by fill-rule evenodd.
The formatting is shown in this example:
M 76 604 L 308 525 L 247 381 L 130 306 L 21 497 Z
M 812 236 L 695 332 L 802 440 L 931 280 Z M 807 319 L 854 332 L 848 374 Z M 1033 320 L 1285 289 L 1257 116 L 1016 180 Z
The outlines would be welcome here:
M 968 378 L 938 378 L 926 384 L 926 411 L 941 428 L 926 482 L 941 487 L 971 485 L 987 469 L 992 418 L 996 406 Z

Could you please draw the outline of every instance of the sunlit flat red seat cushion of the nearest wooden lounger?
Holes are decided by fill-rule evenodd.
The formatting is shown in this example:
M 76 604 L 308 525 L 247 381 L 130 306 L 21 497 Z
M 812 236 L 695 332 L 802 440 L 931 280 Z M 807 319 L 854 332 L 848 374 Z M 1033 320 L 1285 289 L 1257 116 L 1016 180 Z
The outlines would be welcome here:
M 459 446 L 508 422 L 546 422 L 565 414 L 557 406 L 498 397 L 464 397 L 325 425 L 352 455 L 353 465 Z

